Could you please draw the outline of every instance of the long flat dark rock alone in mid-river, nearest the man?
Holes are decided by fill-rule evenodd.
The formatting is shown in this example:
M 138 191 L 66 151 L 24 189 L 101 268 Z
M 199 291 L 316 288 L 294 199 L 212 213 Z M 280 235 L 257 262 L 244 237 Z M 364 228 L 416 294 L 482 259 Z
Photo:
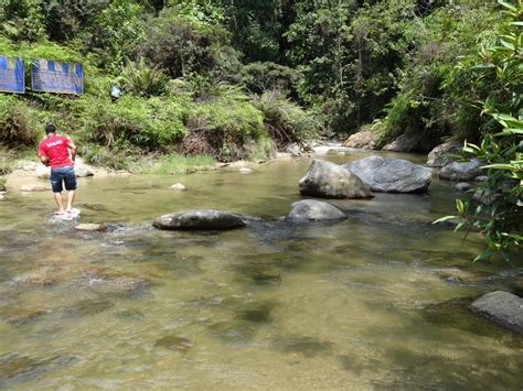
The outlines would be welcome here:
M 214 209 L 196 209 L 160 216 L 152 225 L 159 229 L 168 230 L 225 230 L 245 227 L 245 221 L 242 216 L 236 214 Z

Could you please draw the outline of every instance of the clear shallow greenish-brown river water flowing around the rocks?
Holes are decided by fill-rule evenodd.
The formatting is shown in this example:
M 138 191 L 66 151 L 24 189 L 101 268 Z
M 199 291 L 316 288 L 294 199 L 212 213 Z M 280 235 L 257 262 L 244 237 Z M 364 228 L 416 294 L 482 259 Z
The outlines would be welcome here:
M 479 238 L 430 225 L 452 213 L 451 184 L 333 200 L 346 221 L 287 226 L 278 218 L 300 198 L 308 165 L 82 180 L 82 222 L 113 224 L 104 233 L 50 221 L 49 193 L 10 193 L 0 203 L 0 387 L 521 389 L 523 338 L 466 306 L 523 270 L 471 264 Z M 189 191 L 169 191 L 175 182 Z M 203 207 L 266 222 L 151 228 L 164 213 Z

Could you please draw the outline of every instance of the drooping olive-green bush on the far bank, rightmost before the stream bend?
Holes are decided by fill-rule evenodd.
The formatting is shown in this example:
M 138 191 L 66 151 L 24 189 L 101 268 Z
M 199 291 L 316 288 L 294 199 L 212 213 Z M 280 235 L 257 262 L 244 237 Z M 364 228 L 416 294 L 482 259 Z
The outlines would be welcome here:
M 279 148 L 312 140 L 321 129 L 318 120 L 278 90 L 265 91 L 255 99 L 255 107 L 264 113 L 267 132 Z

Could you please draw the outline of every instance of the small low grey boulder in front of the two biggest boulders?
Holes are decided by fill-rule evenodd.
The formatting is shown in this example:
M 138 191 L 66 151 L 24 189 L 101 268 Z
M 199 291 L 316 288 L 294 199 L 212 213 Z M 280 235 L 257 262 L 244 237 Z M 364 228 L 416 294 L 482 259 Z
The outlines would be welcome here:
M 298 200 L 285 218 L 288 222 L 339 221 L 346 218 L 345 214 L 334 205 L 316 199 Z

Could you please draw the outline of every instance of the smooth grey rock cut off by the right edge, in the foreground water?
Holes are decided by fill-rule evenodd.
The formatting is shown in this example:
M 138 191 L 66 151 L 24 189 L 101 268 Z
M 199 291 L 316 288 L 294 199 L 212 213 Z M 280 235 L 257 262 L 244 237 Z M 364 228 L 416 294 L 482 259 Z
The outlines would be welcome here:
M 488 293 L 470 305 L 476 313 L 523 334 L 523 298 L 504 291 Z

